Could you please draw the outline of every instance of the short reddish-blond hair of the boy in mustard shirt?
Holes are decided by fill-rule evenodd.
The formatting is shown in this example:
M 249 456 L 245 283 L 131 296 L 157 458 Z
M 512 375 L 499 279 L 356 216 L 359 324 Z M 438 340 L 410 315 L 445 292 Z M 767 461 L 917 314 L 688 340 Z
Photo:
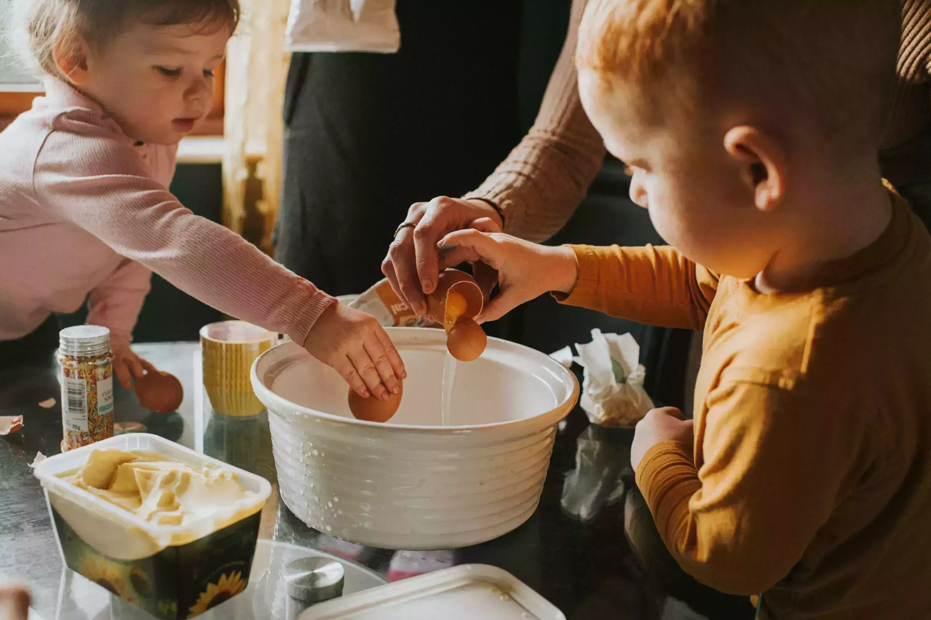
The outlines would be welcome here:
M 890 0 L 591 0 L 576 64 L 697 105 L 743 99 L 878 146 L 900 11 Z

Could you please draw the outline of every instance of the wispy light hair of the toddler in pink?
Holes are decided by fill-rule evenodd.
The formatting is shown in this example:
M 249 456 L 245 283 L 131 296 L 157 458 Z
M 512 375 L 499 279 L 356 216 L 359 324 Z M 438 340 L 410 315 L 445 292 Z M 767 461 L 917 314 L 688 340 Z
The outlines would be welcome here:
M 14 0 L 14 33 L 20 53 L 35 69 L 61 76 L 56 49 L 81 37 L 104 46 L 134 20 L 155 26 L 203 24 L 236 29 L 238 0 Z

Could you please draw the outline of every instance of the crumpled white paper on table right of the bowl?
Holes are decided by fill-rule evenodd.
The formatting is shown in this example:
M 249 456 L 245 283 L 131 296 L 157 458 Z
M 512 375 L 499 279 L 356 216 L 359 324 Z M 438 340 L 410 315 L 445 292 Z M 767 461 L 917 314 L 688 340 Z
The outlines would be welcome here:
M 634 336 L 593 329 L 591 342 L 576 344 L 575 349 L 574 362 L 585 368 L 582 409 L 592 424 L 609 429 L 630 427 L 653 409 L 643 389 L 646 368 L 640 363 L 640 345 Z

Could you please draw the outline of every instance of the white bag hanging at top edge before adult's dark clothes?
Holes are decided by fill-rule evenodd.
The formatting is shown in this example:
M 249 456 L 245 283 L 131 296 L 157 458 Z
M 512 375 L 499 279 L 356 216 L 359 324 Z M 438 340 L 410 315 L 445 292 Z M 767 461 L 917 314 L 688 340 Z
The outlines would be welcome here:
M 400 45 L 395 0 L 291 0 L 289 51 L 392 54 Z

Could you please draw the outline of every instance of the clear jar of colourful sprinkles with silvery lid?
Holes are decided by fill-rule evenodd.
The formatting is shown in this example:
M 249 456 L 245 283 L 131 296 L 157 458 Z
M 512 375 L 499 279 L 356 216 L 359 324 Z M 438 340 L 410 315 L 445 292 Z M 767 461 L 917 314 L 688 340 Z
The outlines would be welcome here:
M 114 436 L 114 356 L 110 330 L 78 325 L 59 334 L 61 452 Z

